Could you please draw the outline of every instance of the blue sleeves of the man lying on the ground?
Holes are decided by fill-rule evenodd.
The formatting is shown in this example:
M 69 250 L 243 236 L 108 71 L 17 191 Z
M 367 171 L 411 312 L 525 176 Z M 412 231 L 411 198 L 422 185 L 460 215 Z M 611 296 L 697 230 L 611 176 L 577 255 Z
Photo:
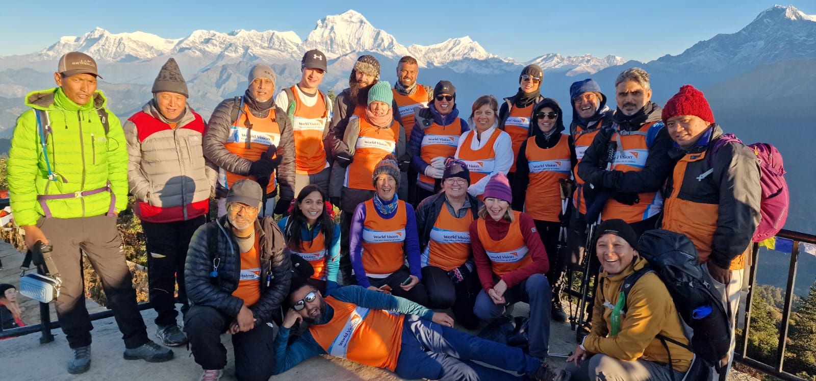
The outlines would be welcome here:
M 399 312 L 406 315 L 416 315 L 425 320 L 431 320 L 433 311 L 423 306 L 402 299 L 398 296 L 388 295 L 383 292 L 366 290 L 361 286 L 345 286 L 336 289 L 330 294 L 331 297 L 342 302 L 357 304 L 360 307 L 371 309 L 382 309 L 386 311 Z M 334 308 L 326 303 L 326 312 L 313 325 L 326 324 L 335 316 Z M 275 337 L 275 374 L 281 374 L 290 370 L 295 365 L 307 360 L 310 357 L 326 354 L 326 351 L 317 344 L 310 331 L 301 334 L 295 343 L 286 345 L 289 342 L 290 329 L 280 327 Z

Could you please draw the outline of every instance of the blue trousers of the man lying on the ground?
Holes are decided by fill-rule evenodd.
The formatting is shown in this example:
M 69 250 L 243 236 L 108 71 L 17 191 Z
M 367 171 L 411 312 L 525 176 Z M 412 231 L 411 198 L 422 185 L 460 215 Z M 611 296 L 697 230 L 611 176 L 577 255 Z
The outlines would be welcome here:
M 517 373 L 533 374 L 537 358 L 512 348 L 480 339 L 454 328 L 419 317 L 407 316 L 402 328 L 402 345 L 394 370 L 403 379 L 517 380 L 517 375 L 473 361 Z

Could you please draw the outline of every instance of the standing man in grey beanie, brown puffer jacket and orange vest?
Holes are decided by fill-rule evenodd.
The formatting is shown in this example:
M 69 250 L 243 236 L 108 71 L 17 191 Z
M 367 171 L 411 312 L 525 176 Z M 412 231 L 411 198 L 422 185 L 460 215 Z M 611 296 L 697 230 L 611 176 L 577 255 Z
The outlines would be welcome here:
M 272 68 L 256 64 L 247 82 L 244 95 L 215 107 L 204 135 L 204 156 L 220 168 L 218 215 L 226 214 L 224 195 L 239 179 L 264 188 L 260 215 L 281 215 L 295 198 L 295 135 L 286 111 L 273 99 Z

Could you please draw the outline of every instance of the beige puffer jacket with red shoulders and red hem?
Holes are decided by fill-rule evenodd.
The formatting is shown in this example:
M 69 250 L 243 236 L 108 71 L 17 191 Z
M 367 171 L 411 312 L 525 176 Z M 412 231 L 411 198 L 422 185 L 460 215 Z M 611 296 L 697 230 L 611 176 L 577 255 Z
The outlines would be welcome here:
M 127 183 L 140 219 L 166 223 L 206 214 L 218 170 L 204 157 L 204 128 L 189 106 L 171 128 L 153 100 L 125 122 Z

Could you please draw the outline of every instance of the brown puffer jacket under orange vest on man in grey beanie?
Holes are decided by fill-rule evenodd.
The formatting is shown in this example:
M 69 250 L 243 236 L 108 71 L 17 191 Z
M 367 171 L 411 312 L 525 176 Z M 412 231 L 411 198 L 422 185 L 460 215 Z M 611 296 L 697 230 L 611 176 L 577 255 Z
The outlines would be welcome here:
M 277 144 L 277 155 L 282 157 L 281 164 L 277 166 L 277 194 L 283 200 L 295 198 L 295 134 L 292 130 L 292 123 L 286 115 L 286 111 L 280 107 L 273 106 L 272 109 L 259 111 L 254 100 L 243 95 L 244 103 L 249 106 L 250 112 L 255 117 L 268 117 L 274 110 L 277 125 L 281 129 L 281 140 Z M 230 127 L 233 126 L 233 109 L 237 109 L 235 98 L 222 100 L 215 111 L 212 112 L 210 122 L 206 125 L 204 135 L 204 156 L 209 158 L 219 168 L 237 175 L 249 175 L 252 162 L 244 157 L 228 151 L 224 143 L 229 137 Z

